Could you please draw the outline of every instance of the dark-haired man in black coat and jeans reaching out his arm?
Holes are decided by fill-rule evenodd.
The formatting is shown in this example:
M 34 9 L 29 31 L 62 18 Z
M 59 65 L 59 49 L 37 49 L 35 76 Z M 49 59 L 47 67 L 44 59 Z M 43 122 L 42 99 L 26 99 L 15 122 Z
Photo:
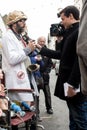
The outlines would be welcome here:
M 40 53 L 50 58 L 60 59 L 59 75 L 54 95 L 67 102 L 70 130 L 87 130 L 87 96 L 84 96 L 79 89 L 80 70 L 76 54 L 79 10 L 75 6 L 67 6 L 59 13 L 59 16 L 62 20 L 61 23 L 65 27 L 62 50 L 53 51 L 40 48 Z M 68 88 L 67 96 L 64 92 L 64 84 Z

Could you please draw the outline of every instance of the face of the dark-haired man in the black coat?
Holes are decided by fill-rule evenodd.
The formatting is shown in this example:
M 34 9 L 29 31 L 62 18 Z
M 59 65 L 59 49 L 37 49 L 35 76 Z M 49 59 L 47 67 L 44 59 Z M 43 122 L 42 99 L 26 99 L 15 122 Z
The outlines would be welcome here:
M 65 28 L 68 28 L 71 25 L 71 17 L 70 16 L 69 17 L 65 16 L 64 13 L 62 13 L 60 15 L 60 17 L 61 17 L 61 20 L 62 20 L 61 23 L 63 24 L 63 26 Z

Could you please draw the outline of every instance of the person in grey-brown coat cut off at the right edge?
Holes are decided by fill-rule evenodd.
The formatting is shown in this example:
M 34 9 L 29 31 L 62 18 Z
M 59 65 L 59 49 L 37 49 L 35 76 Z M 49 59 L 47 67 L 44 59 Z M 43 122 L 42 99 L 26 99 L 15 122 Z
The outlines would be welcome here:
M 83 0 L 77 41 L 77 54 L 81 71 L 81 91 L 87 95 L 87 1 Z

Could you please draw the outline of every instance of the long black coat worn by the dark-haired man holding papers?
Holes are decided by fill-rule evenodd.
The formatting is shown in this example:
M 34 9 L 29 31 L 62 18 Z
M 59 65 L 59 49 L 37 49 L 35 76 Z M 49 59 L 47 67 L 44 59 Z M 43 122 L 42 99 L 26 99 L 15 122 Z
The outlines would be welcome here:
M 59 75 L 56 82 L 54 95 L 60 99 L 67 100 L 64 96 L 63 84 L 68 82 L 74 88 L 78 88 L 80 84 L 80 70 L 78 64 L 78 57 L 76 54 L 76 42 L 78 37 L 79 23 L 74 23 L 67 31 L 66 37 L 63 39 L 63 47 L 60 51 L 53 51 L 50 49 L 42 48 L 41 54 L 50 58 L 60 59 Z M 82 93 L 78 93 L 73 98 L 83 97 Z

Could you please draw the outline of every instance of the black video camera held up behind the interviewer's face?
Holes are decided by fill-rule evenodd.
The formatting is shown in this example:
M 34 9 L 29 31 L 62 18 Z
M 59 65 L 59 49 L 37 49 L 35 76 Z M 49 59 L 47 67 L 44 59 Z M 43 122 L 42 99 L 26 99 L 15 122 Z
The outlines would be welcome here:
M 61 23 L 51 24 L 51 27 L 50 27 L 51 36 L 63 36 L 64 32 L 65 32 L 65 29 Z

